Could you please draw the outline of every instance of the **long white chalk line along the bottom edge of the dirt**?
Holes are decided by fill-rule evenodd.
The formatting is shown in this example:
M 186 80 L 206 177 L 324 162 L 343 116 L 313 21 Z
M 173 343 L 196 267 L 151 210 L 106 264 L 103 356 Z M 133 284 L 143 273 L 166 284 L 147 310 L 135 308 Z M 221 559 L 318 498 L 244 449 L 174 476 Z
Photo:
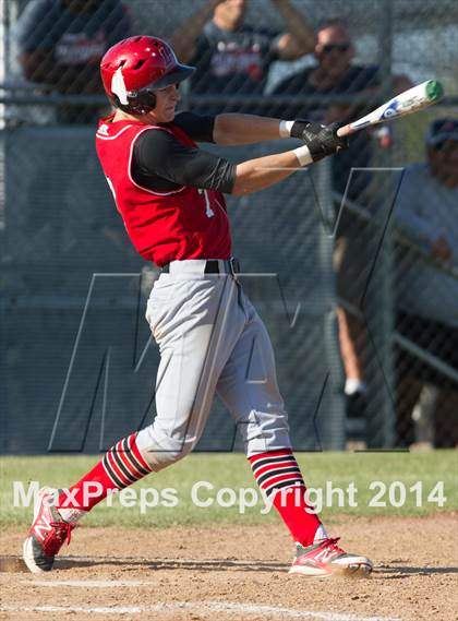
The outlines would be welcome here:
M 225 601 L 174 601 L 150 606 L 0 606 L 1 612 L 83 612 L 94 614 L 144 614 L 160 612 L 226 613 L 226 614 L 263 614 L 270 619 L 315 619 L 317 621 L 401 621 L 398 617 L 358 617 L 340 612 L 321 612 L 314 610 L 296 610 L 275 606 L 255 606 L 250 604 L 230 604 Z

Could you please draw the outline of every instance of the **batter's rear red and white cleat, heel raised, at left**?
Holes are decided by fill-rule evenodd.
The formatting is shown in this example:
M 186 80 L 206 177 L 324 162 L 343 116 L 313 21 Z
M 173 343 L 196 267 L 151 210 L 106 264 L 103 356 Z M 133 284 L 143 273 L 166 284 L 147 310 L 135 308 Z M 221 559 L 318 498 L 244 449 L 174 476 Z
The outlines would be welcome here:
M 49 488 L 39 490 L 34 522 L 24 541 L 24 562 L 31 572 L 37 574 L 51 571 L 56 554 L 65 540 L 70 544 L 70 534 L 75 527 L 75 524 L 62 520 L 53 506 L 53 494 L 55 490 Z

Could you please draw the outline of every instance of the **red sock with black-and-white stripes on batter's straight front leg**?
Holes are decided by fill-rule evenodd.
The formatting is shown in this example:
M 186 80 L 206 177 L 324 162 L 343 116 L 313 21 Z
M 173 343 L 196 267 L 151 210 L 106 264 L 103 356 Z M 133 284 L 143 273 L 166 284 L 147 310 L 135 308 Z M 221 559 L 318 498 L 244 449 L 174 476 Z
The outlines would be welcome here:
M 304 499 L 305 483 L 292 451 L 284 449 L 249 457 L 254 478 L 269 498 L 296 542 L 311 546 L 322 525 Z

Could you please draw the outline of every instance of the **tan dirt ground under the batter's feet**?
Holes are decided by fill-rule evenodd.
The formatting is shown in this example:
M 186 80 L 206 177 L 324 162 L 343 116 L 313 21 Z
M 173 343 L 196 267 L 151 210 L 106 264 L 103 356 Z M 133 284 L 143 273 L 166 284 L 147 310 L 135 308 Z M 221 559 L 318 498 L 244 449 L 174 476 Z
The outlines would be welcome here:
M 293 550 L 280 526 L 82 527 L 56 571 L 37 576 L 19 558 L 24 533 L 10 527 L 0 535 L 0 618 L 451 621 L 457 526 L 450 514 L 334 521 L 330 534 L 374 561 L 365 580 L 288 575 Z

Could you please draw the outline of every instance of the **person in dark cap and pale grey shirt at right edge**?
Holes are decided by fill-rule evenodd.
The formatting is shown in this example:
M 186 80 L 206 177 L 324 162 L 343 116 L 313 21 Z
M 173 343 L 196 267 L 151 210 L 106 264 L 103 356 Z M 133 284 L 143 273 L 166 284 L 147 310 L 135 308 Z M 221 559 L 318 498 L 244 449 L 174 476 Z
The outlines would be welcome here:
M 458 373 L 458 119 L 434 121 L 426 162 L 406 168 L 395 223 L 426 262 L 405 249 L 397 264 L 397 330 Z M 451 268 L 451 271 L 450 271 Z M 439 389 L 434 431 L 438 447 L 458 444 L 458 382 L 402 347 L 397 348 L 397 430 L 414 442 L 412 410 L 424 383 Z

